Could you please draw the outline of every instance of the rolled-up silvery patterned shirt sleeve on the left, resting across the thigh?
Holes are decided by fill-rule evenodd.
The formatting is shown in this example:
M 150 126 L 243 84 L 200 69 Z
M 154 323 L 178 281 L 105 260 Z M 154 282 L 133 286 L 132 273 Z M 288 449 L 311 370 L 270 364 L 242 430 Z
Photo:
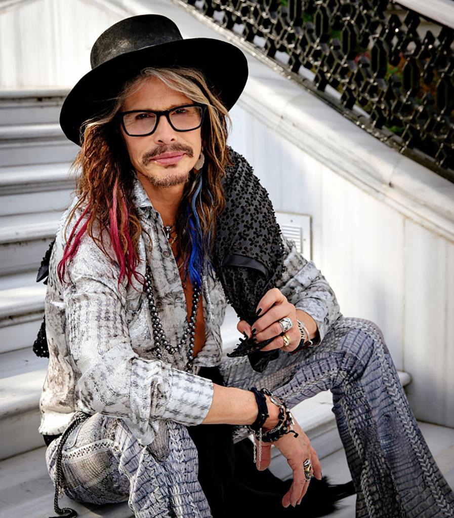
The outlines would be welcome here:
M 86 252 L 82 247 L 70 261 L 63 288 L 82 409 L 127 420 L 143 444 L 153 440 L 159 420 L 200 424 L 211 406 L 213 382 L 138 356 L 129 338 L 126 287 L 125 282 L 118 286 L 118 265 Z

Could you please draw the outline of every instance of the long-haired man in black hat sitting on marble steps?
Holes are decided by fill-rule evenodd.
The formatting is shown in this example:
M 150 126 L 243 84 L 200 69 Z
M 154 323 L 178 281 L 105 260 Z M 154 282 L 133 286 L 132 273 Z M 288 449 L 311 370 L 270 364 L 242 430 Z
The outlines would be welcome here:
M 268 467 L 274 444 L 293 471 L 267 515 L 291 515 L 303 501 L 299 515 L 318 516 L 305 512 L 303 497 L 320 464 L 289 409 L 330 390 L 356 515 L 451 516 L 454 495 L 382 332 L 345 318 L 320 271 L 284 237 L 281 280 L 253 325 L 238 323 L 258 343 L 274 338 L 261 351 L 279 356 L 263 372 L 246 356 L 222 356 L 226 299 L 210 252 L 223 178 L 253 175 L 226 143 L 228 110 L 247 78 L 243 53 L 183 39 L 168 18 L 144 15 L 108 28 L 91 59 L 61 112 L 63 131 L 81 146 L 81 173 L 45 302 L 39 432 L 56 490 L 81 502 L 128 501 L 141 517 L 216 516 L 188 427 L 227 424 L 238 426 L 237 438 L 255 431 L 257 468 Z M 260 231 L 266 239 L 269 229 Z M 219 382 L 201 375 L 206 368 Z M 266 501 L 251 491 L 239 502 L 232 487 L 222 488 L 225 509 L 238 516 Z

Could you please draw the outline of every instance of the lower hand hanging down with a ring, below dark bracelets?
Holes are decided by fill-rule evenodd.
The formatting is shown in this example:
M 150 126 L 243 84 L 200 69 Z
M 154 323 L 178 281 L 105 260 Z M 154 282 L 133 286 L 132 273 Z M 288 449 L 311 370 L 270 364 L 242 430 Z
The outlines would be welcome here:
M 262 442 L 260 466 L 258 465 L 257 455 L 256 466 L 260 471 L 267 469 L 270 465 L 271 444 L 274 444 L 287 459 L 287 463 L 293 471 L 293 481 L 289 490 L 282 499 L 282 505 L 284 507 L 288 507 L 290 504 L 295 507 L 297 503 L 301 502 L 303 496 L 306 494 L 310 481 L 306 480 L 304 477 L 303 463 L 307 458 L 310 458 L 312 461 L 315 478 L 321 480 L 321 467 L 318 461 L 317 452 L 312 448 L 309 438 L 304 433 L 301 426 L 296 422 L 295 417 L 294 430 L 298 434 L 298 437 L 289 433 L 283 435 L 280 439 L 272 443 Z M 254 440 L 256 441 L 258 450 L 258 441 L 256 439 Z

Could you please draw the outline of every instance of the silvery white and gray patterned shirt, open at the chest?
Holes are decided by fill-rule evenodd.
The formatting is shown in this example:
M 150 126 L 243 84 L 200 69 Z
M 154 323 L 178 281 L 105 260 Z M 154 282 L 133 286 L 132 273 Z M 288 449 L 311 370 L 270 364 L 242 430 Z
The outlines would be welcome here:
M 229 150 L 236 164 L 230 167 L 230 174 L 236 168 L 253 174 L 244 157 Z M 209 276 L 203 283 L 206 342 L 194 358 L 194 373 L 185 371 L 187 350 L 171 355 L 163 348 L 162 359 L 156 359 L 147 298 L 134 277 L 129 286 L 126 279 L 118 286 L 120 268 L 108 247 L 108 235 L 105 246 L 111 259 L 85 234 L 75 257 L 66 265 L 65 280 L 69 282 L 62 285 L 58 281 L 56 267 L 66 243 L 67 215 L 76 201 L 77 197 L 62 215 L 50 257 L 45 299 L 49 364 L 40 397 L 39 433 L 62 433 L 77 410 L 124 419 L 142 445 L 155 439 L 163 420 L 200 424 L 211 406 L 213 382 L 197 372 L 202 366 L 230 360 L 222 356 L 220 328 L 227 303 L 221 283 Z M 160 321 L 167 340 L 176 344 L 187 321 L 181 278 L 160 214 L 136 174 L 134 203 L 142 227 L 152 238 L 150 247 L 147 235 L 140 237 L 137 271 L 145 275 L 147 254 Z M 81 213 L 79 209 L 71 220 L 67 236 Z M 306 261 L 293 242 L 282 239 L 285 269 L 277 287 L 314 318 L 323 340 L 328 327 L 341 315 L 335 295 L 314 263 Z

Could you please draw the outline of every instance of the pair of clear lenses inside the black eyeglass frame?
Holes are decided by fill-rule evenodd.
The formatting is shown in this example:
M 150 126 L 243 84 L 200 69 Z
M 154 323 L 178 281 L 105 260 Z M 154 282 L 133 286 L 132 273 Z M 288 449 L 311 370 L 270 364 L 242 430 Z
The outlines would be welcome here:
M 194 130 L 200 125 L 202 109 L 199 106 L 175 108 L 169 113 L 169 118 L 175 130 Z M 156 126 L 156 114 L 148 111 L 126 113 L 123 116 L 124 125 L 129 135 L 146 135 Z

